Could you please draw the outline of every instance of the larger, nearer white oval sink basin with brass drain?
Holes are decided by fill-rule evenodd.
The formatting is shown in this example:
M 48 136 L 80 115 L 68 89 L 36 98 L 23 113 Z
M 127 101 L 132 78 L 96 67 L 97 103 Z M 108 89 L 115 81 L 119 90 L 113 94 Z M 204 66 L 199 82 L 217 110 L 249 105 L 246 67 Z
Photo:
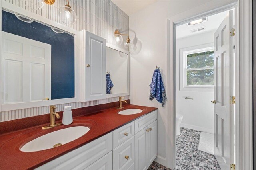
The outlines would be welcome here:
M 86 134 L 89 130 L 90 128 L 85 126 L 74 126 L 60 129 L 58 131 L 47 133 L 26 143 L 20 150 L 22 152 L 36 152 L 50 149 L 74 141 Z

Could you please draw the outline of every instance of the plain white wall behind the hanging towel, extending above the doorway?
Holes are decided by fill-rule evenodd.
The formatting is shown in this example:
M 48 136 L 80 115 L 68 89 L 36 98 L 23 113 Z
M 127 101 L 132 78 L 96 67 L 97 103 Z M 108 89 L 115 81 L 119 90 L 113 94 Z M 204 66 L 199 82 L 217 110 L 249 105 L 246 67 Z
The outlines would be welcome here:
M 129 17 L 129 34 L 142 42 L 142 49 L 130 60 L 130 102 L 132 104 L 158 107 L 158 158 L 156 161 L 166 165 L 166 107 L 162 108 L 156 100 L 149 100 L 149 84 L 155 66 L 161 67 L 166 87 L 167 80 L 167 19 L 193 10 L 211 0 L 160 0 Z M 232 0 L 214 0 L 223 6 Z M 213 8 L 213 7 L 212 7 Z M 194 11 L 194 10 L 193 10 Z M 167 100 L 170 101 L 169 96 Z M 167 101 L 167 102 L 168 102 Z M 168 137 L 173 141 L 172 137 Z

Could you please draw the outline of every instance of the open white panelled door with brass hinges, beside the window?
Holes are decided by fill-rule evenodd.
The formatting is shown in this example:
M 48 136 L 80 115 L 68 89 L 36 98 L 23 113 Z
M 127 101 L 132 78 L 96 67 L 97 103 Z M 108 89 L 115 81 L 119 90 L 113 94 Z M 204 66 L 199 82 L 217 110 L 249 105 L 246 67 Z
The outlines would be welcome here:
M 233 107 L 233 45 L 230 35 L 233 11 L 229 11 L 214 33 L 214 154 L 222 170 L 234 163 Z

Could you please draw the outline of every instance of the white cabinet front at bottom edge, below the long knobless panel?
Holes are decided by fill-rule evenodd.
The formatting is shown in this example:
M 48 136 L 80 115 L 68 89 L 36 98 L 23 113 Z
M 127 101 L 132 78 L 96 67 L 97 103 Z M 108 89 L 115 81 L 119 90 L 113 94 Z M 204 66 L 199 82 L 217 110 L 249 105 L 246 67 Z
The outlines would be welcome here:
M 113 157 L 112 151 L 85 168 L 84 170 L 112 170 L 113 169 Z

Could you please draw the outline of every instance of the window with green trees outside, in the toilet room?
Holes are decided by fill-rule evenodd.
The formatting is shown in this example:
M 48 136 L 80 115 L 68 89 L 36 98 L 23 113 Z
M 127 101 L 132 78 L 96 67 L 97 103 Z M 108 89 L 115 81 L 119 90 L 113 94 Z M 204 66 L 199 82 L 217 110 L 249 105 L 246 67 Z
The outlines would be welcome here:
M 214 51 L 186 55 L 186 85 L 214 85 Z

